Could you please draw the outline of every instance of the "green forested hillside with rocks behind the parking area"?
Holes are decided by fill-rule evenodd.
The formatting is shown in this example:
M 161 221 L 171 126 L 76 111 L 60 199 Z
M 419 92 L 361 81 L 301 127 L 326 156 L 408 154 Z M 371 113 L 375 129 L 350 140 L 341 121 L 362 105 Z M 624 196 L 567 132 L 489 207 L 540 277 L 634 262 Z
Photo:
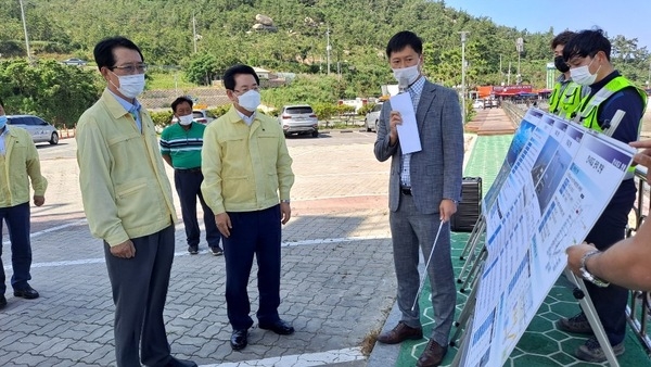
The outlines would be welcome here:
M 391 81 L 384 47 L 398 30 L 411 29 L 425 40 L 425 71 L 430 78 L 447 86 L 461 83 L 459 31 L 470 31 L 465 59 L 471 87 L 506 83 L 509 63 L 510 81 L 515 83 L 519 37 L 525 41 L 520 55 L 522 81 L 544 87 L 545 65 L 552 59 L 549 42 L 554 33 L 562 30 L 550 28 L 538 34 L 499 26 L 488 18 L 446 8 L 445 1 L 425 0 L 23 0 L 23 3 L 31 52 L 38 59 L 92 60 L 92 47 L 98 40 L 124 35 L 143 49 L 150 64 L 179 66 L 197 84 L 218 77 L 235 62 L 273 72 L 327 74 L 330 30 L 330 71 L 334 75 L 341 73 L 342 94 L 353 96 L 376 94 L 380 84 Z M 272 27 L 266 27 L 270 30 L 252 28 L 256 14 L 273 20 Z M 0 20 L 2 58 L 24 56 L 18 0 L 0 0 Z M 643 85 L 649 73 L 648 50 L 638 49 L 637 39 L 610 36 L 615 65 Z

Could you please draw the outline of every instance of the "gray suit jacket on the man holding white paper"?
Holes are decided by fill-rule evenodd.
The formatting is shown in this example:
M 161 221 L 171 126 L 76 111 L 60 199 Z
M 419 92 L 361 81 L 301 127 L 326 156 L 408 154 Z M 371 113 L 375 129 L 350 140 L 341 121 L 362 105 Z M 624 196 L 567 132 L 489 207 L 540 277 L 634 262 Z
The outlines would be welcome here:
M 391 103 L 384 103 L 378 122 L 374 153 L 380 162 L 392 157 L 388 207 L 395 212 L 400 201 L 403 152 L 399 141 L 394 147 L 388 143 L 391 111 Z M 416 121 L 422 150 L 411 154 L 411 192 L 421 214 L 438 213 L 443 199 L 461 200 L 463 122 L 457 92 L 425 80 Z

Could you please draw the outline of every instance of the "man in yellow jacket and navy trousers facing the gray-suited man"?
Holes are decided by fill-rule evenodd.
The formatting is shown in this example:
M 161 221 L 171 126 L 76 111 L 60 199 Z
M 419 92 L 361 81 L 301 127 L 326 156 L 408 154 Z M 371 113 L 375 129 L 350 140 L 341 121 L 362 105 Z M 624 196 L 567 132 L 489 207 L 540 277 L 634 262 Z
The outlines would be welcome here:
M 230 343 L 235 351 L 246 346 L 253 326 L 246 286 L 254 255 L 260 329 L 283 336 L 294 332 L 278 315 L 280 225 L 292 215 L 292 159 L 278 122 L 256 111 L 260 103 L 258 84 L 251 66 L 235 65 L 226 71 L 224 86 L 233 106 L 206 127 L 201 155 L 203 197 L 224 236 L 226 305 L 233 328 Z

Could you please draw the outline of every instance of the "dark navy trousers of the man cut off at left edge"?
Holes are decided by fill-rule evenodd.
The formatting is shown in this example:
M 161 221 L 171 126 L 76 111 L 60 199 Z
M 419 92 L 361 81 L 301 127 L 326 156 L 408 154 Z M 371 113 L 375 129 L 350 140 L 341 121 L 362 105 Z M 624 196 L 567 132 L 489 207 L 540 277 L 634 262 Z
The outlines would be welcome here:
M 9 229 L 11 242 L 11 286 L 13 289 L 25 289 L 31 279 L 29 268 L 31 267 L 31 244 L 29 242 L 29 202 L 10 207 L 0 207 L 0 241 L 2 239 L 2 219 Z M 0 242 L 0 255 L 2 254 L 2 242 Z M 4 284 L 4 266 L 0 257 L 0 295 L 7 291 Z

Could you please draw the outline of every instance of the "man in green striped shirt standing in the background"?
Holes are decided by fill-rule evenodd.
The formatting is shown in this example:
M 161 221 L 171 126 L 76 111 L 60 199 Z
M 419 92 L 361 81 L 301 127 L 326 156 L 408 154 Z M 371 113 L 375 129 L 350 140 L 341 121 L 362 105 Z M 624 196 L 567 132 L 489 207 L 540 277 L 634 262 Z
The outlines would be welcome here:
M 179 97 L 171 102 L 171 110 L 178 121 L 166 127 L 161 135 L 161 154 L 163 160 L 174 168 L 174 182 L 181 202 L 181 213 L 188 237 L 188 252 L 199 253 L 201 230 L 196 220 L 196 198 L 201 202 L 206 226 L 206 242 L 215 256 L 224 252 L 219 246 L 221 235 L 215 223 L 215 215 L 201 193 L 201 149 L 205 126 L 193 122 L 192 100 Z

